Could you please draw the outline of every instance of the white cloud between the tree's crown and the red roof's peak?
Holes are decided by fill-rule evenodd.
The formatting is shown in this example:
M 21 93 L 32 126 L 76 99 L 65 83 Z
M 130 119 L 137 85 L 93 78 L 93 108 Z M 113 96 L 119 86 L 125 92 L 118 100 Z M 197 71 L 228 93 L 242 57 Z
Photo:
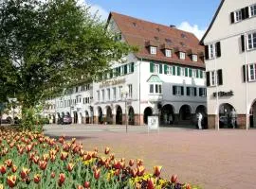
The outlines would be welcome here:
M 78 0 L 78 5 L 89 6 L 90 7 L 89 11 L 91 12 L 91 14 L 94 15 L 95 13 L 97 13 L 97 16 L 100 16 L 102 21 L 105 21 L 108 17 L 108 14 L 109 14 L 108 11 L 101 8 L 101 6 L 99 5 L 89 4 L 88 2 L 86 2 L 86 0 Z

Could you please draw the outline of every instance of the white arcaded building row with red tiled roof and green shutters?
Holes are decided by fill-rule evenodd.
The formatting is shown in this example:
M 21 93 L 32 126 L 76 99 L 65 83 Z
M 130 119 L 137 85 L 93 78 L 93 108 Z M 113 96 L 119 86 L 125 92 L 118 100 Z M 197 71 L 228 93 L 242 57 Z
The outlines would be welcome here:
M 149 115 L 167 125 L 191 124 L 195 112 L 206 115 L 204 48 L 192 33 L 115 12 L 107 24 L 117 40 L 137 46 L 138 52 L 113 63 L 88 93 L 74 90 L 57 98 L 57 114 L 69 112 L 78 123 L 88 116 L 89 123 L 125 124 L 127 100 L 130 125 L 146 124 Z M 87 105 L 84 97 L 90 99 Z M 68 100 L 72 104 L 64 105 Z

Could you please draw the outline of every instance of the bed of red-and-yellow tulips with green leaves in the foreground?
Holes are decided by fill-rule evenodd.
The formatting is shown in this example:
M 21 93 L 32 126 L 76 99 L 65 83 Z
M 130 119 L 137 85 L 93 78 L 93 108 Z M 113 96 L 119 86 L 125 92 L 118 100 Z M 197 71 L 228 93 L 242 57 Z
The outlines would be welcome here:
M 145 188 L 190 189 L 189 184 L 160 178 L 161 166 L 146 173 L 143 161 L 116 160 L 106 147 L 84 151 L 76 139 L 65 141 L 42 133 L 0 129 L 1 188 Z

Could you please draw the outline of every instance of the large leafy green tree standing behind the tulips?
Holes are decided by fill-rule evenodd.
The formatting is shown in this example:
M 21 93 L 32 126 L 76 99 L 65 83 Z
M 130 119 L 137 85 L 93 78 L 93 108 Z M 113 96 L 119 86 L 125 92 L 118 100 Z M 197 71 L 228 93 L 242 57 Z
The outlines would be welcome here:
M 89 81 L 130 50 L 76 0 L 0 3 L 0 82 L 23 109 Z

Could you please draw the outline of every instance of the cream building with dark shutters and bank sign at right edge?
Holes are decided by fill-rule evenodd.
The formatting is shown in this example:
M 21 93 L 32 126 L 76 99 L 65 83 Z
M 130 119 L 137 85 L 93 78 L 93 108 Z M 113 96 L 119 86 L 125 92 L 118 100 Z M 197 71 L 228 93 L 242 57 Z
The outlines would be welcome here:
M 223 0 L 201 44 L 206 46 L 209 128 L 229 128 L 232 109 L 237 128 L 255 128 L 256 1 Z

